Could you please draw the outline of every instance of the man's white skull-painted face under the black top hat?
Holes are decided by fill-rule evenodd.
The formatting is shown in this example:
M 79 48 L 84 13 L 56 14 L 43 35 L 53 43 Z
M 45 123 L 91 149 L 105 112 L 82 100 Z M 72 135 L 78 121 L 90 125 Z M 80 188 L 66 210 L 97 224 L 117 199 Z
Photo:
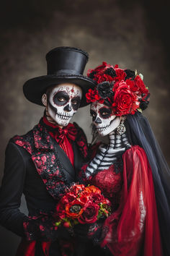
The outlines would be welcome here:
M 48 93 L 48 114 L 59 126 L 65 127 L 78 110 L 81 97 L 82 91 L 78 85 L 71 83 L 56 85 Z

